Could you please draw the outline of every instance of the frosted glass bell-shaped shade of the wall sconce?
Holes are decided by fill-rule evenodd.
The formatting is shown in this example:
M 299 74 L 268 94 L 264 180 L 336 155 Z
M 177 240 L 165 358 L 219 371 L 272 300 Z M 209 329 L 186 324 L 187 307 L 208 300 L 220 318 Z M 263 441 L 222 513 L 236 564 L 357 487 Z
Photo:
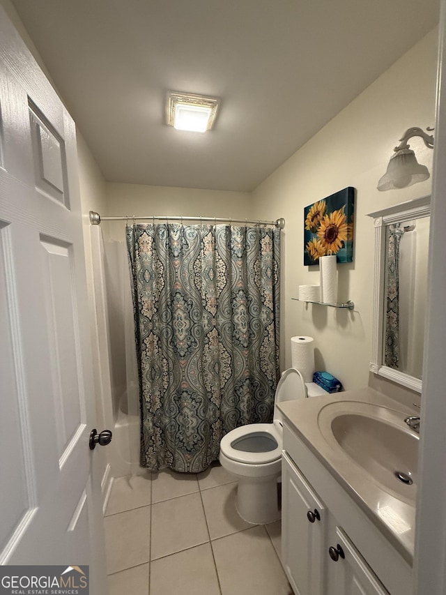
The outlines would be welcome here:
M 429 179 L 429 170 L 425 165 L 417 162 L 412 149 L 399 149 L 390 158 L 387 165 L 387 172 L 378 182 L 378 190 L 392 190 L 395 188 L 406 188 L 417 182 Z

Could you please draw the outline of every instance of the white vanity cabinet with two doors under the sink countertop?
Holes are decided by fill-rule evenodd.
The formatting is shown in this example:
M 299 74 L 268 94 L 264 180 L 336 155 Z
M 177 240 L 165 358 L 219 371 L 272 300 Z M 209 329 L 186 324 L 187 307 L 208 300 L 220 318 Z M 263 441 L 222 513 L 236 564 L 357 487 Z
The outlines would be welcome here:
M 282 563 L 295 595 L 411 592 L 412 568 L 286 424 Z

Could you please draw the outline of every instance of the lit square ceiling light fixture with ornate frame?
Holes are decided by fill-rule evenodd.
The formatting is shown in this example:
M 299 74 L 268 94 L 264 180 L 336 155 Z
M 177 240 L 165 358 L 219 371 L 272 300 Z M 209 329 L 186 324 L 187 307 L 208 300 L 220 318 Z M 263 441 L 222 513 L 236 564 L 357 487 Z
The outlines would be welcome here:
M 171 91 L 167 93 L 167 123 L 177 130 L 206 133 L 213 127 L 219 105 L 216 97 Z

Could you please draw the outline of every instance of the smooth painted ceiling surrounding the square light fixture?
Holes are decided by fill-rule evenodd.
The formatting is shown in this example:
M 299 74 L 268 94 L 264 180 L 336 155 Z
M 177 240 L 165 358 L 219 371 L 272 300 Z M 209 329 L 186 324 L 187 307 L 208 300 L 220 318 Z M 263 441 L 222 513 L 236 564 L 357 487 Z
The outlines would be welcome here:
M 438 0 L 12 0 L 107 181 L 251 191 L 438 22 Z M 164 123 L 167 91 L 222 99 Z

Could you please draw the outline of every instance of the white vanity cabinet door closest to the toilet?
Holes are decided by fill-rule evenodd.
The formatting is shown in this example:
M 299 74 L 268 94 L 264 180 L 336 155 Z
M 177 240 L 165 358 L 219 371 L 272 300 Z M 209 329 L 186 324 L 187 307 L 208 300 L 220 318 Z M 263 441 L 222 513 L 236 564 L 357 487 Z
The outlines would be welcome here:
M 314 515 L 313 522 L 307 513 L 311 519 Z M 323 594 L 326 522 L 321 499 L 282 453 L 282 562 L 295 595 Z

